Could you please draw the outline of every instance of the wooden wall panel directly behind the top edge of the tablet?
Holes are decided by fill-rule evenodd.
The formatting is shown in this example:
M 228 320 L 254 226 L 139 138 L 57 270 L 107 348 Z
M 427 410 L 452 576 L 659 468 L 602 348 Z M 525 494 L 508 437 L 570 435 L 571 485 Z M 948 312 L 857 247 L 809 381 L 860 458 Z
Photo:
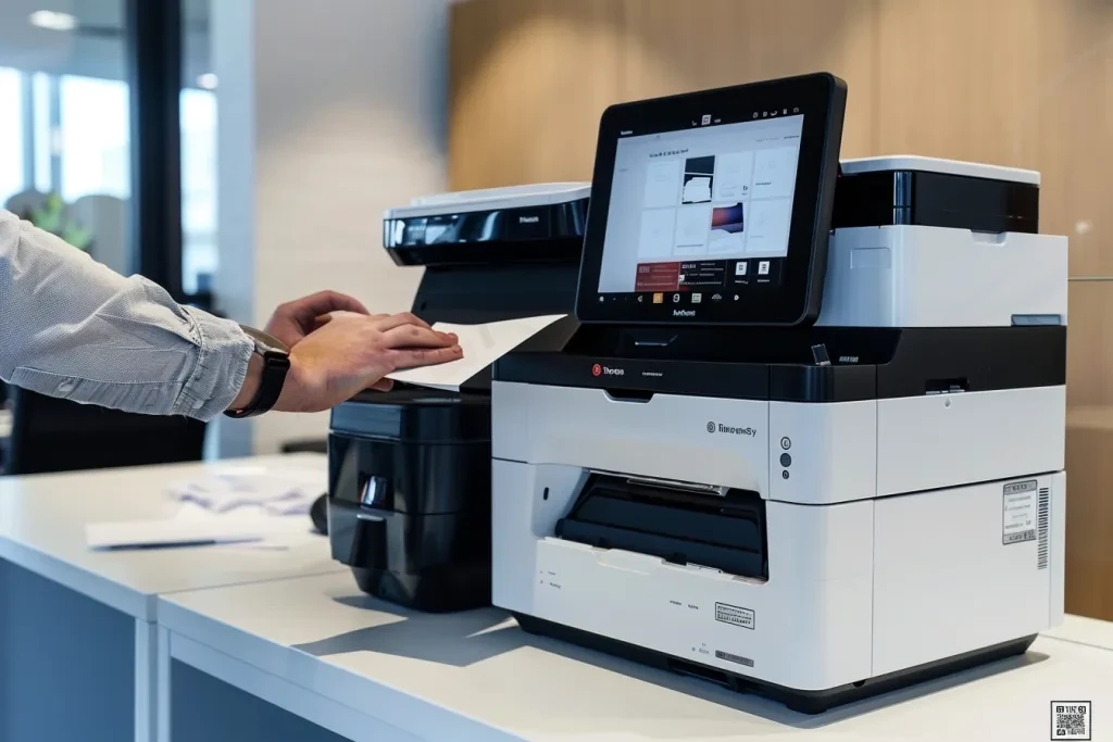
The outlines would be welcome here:
M 829 71 L 849 88 L 844 157 L 876 150 L 876 0 L 624 0 L 622 97 Z

